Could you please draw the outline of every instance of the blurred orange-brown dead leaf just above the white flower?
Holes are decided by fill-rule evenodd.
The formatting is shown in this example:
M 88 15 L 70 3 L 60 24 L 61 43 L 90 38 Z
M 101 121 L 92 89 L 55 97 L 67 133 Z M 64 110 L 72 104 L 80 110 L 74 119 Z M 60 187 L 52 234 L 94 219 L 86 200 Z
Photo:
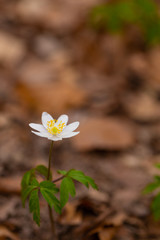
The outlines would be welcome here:
M 86 94 L 76 85 L 57 82 L 26 86 L 17 85 L 17 94 L 21 102 L 30 109 L 39 113 L 44 110 L 55 112 L 57 115 L 77 108 L 85 103 Z

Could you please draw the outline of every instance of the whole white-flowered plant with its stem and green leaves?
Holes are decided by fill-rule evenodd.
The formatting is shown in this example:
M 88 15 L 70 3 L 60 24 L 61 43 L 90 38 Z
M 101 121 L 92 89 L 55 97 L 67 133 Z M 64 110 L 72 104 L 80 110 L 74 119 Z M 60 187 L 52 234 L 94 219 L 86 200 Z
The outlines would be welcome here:
M 48 204 L 49 216 L 53 234 L 55 234 L 54 219 L 52 208 L 58 214 L 61 213 L 63 207 L 69 200 L 69 196 L 76 195 L 75 181 L 85 185 L 87 188 L 91 186 L 98 189 L 94 180 L 85 175 L 82 171 L 71 169 L 69 171 L 58 170 L 61 176 L 53 179 L 51 172 L 51 156 L 53 149 L 53 141 L 62 140 L 77 135 L 79 132 L 74 132 L 78 127 L 79 122 L 74 122 L 67 125 L 68 116 L 61 115 L 58 120 L 54 120 L 51 115 L 42 113 L 42 124 L 29 124 L 36 131 L 34 134 L 46 137 L 51 140 L 49 153 L 48 167 L 38 165 L 35 168 L 27 171 L 21 181 L 22 205 L 25 207 L 26 200 L 29 199 L 29 210 L 33 214 L 33 220 L 40 226 L 40 204 L 39 198 L 42 196 Z M 42 181 L 38 181 L 38 176 L 42 177 Z M 56 182 L 61 181 L 60 187 L 56 186 Z

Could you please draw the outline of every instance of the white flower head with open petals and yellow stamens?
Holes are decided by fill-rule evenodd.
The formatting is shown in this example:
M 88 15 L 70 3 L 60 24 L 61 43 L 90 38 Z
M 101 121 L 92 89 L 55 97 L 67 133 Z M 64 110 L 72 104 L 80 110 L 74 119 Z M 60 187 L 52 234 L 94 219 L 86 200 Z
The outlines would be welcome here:
M 78 126 L 79 122 L 73 122 L 67 125 L 68 116 L 61 115 L 58 120 L 52 118 L 47 112 L 42 113 L 42 124 L 30 123 L 29 126 L 34 130 L 34 134 L 40 137 L 46 137 L 52 141 L 62 140 L 62 138 L 69 138 L 77 135 L 79 132 L 73 132 Z

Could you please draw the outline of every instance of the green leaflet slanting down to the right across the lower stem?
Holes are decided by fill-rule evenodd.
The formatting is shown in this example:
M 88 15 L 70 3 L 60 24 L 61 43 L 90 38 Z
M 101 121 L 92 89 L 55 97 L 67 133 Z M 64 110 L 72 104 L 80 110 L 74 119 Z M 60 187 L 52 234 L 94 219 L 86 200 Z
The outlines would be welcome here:
M 54 196 L 52 191 L 49 191 L 48 189 L 45 188 L 40 188 L 40 192 L 44 199 L 47 201 L 49 206 L 52 208 L 54 207 L 55 211 L 57 213 L 61 213 L 61 207 L 60 207 L 60 202 L 59 200 Z

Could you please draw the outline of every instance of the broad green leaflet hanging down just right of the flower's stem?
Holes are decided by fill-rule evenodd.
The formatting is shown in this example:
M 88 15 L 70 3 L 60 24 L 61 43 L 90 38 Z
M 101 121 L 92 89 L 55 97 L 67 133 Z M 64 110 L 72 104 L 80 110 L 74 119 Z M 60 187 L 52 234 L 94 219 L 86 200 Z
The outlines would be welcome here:
M 64 207 L 65 204 L 68 202 L 69 194 L 71 194 L 72 197 L 75 196 L 75 186 L 70 177 L 63 178 L 60 186 L 60 203 L 61 207 Z

